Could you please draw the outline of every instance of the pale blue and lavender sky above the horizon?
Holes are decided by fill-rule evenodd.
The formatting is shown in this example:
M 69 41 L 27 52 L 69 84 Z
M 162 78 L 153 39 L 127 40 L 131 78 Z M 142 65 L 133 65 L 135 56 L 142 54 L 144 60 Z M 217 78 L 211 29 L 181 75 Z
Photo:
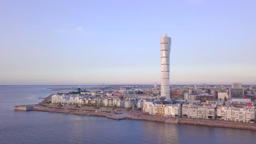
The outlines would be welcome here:
M 256 84 L 256 1 L 0 1 L 0 85 Z

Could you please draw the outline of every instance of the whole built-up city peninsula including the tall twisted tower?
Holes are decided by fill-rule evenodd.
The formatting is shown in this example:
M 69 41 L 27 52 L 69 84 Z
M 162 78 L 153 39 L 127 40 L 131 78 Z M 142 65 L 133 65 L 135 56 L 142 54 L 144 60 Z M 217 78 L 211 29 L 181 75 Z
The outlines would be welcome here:
M 46 111 L 112 119 L 135 119 L 173 124 L 256 130 L 256 86 L 172 85 L 172 39 L 160 38 L 161 85 L 79 87 L 57 93 L 39 105 L 15 106 L 15 110 Z M 54 88 L 53 90 L 65 88 Z

